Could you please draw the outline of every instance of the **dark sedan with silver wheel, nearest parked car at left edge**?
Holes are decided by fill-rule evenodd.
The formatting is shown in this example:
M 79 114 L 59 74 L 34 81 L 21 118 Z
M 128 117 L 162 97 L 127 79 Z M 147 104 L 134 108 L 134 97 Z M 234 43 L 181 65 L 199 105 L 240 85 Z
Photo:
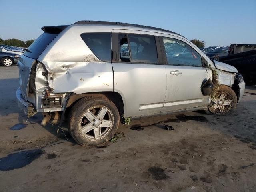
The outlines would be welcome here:
M 14 63 L 17 63 L 20 58 L 18 53 L 6 51 L 0 48 L 0 63 L 5 67 L 10 67 Z

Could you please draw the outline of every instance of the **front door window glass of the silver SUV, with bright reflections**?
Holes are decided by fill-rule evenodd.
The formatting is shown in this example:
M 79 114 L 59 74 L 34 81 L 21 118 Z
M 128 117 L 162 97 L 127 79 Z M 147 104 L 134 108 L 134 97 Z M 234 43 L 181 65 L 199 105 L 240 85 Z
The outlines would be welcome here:
M 185 42 L 174 38 L 163 38 L 163 40 L 168 64 L 202 66 L 200 54 Z

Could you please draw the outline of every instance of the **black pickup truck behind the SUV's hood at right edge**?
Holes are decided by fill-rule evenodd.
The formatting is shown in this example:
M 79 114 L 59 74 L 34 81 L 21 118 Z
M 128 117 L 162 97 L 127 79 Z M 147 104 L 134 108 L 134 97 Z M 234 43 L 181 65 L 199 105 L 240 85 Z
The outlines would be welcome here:
M 256 44 L 231 44 L 218 60 L 237 68 L 246 84 L 256 85 Z

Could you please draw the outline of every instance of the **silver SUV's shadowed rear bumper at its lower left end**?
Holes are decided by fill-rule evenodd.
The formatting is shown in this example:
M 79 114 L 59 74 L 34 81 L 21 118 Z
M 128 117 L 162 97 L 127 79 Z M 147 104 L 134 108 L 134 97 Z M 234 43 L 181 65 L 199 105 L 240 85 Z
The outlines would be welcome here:
M 26 114 L 27 116 L 33 116 L 35 114 L 34 106 L 22 97 L 20 88 L 18 88 L 16 91 L 16 98 L 18 106 L 20 110 L 24 112 L 24 114 Z

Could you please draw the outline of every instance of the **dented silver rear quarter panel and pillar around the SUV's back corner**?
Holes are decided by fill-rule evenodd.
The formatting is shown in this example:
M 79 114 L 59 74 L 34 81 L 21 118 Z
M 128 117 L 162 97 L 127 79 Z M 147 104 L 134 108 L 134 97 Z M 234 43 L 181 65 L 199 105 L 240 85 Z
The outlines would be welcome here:
M 53 93 L 114 90 L 111 62 L 99 60 L 80 36 L 92 30 L 79 25 L 67 27 L 38 58 L 48 71 L 48 83 Z

